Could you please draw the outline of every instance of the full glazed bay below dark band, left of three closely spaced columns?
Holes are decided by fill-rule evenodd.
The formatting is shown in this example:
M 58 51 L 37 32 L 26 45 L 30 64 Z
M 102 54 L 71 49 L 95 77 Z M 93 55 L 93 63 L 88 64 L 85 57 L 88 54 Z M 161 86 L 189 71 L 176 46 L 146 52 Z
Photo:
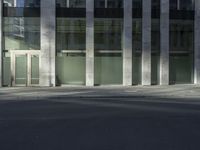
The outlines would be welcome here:
M 95 19 L 95 84 L 122 84 L 122 19 Z

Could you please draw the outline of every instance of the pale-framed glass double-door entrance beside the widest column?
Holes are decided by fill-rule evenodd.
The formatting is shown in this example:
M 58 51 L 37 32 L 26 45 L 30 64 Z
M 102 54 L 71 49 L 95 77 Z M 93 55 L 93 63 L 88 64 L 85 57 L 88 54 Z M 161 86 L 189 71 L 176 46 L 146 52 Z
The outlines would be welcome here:
M 12 86 L 39 86 L 39 51 L 11 52 Z

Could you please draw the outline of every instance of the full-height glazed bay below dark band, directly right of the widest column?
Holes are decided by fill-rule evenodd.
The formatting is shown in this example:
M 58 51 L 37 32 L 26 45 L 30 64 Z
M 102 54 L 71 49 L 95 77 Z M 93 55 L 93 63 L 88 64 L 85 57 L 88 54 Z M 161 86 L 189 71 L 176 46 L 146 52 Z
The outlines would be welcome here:
M 85 84 L 85 18 L 57 18 L 57 85 Z

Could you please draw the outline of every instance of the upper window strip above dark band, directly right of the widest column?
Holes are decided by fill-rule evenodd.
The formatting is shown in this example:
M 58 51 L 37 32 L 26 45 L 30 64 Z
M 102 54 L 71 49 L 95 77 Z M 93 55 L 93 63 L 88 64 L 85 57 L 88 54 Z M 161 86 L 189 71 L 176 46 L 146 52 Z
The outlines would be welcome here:
M 57 7 L 86 8 L 86 0 L 57 0 Z

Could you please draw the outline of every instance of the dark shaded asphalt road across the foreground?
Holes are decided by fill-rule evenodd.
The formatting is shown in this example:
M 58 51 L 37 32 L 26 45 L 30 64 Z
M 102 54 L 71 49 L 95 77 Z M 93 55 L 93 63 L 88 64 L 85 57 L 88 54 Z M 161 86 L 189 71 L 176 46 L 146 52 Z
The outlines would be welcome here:
M 0 99 L 0 150 L 200 149 L 197 99 L 26 98 Z

